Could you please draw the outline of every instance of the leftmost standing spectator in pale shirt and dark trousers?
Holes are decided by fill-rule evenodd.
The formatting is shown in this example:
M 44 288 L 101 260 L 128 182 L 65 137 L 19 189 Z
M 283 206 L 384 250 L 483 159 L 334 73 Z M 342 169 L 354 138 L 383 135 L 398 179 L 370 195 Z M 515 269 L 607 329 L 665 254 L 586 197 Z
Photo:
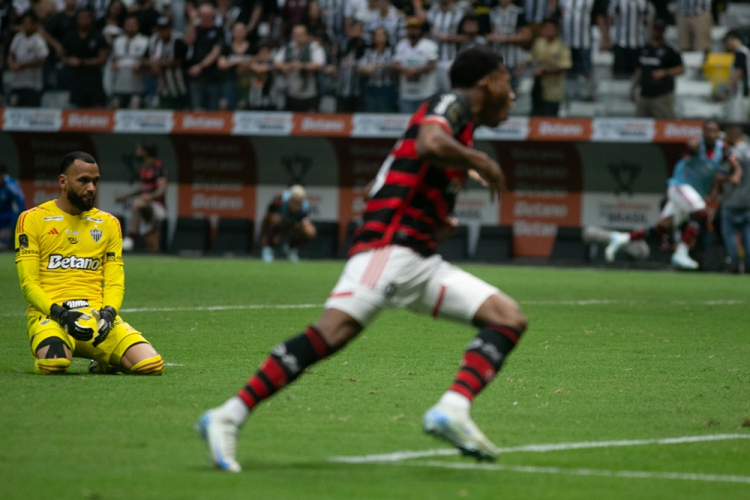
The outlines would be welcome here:
M 42 95 L 42 66 L 49 50 L 32 11 L 21 15 L 21 30 L 8 49 L 11 72 L 9 106 L 38 107 Z

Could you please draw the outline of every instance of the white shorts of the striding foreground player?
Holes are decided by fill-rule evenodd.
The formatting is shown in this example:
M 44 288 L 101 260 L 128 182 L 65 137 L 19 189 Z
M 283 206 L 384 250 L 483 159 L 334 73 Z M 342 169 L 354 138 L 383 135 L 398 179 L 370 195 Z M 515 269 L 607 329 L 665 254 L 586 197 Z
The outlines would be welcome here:
M 414 250 L 387 246 L 349 259 L 325 303 L 366 327 L 386 308 L 410 310 L 471 324 L 479 307 L 500 290 L 445 262 Z

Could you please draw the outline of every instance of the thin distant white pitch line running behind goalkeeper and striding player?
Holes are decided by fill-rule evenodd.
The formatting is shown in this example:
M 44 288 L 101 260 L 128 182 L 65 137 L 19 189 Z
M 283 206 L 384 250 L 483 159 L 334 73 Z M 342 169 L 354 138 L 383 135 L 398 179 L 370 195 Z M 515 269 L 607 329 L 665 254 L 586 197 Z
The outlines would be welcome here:
M 585 300 L 521 300 L 521 305 L 528 306 L 599 306 L 611 304 L 638 305 L 647 302 L 637 300 L 608 300 L 608 299 L 585 299 Z M 747 304 L 745 300 L 704 300 L 704 301 L 669 301 L 664 304 L 670 305 L 696 305 L 696 306 L 736 306 Z M 120 310 L 122 313 L 140 312 L 190 312 L 190 311 L 245 311 L 260 309 L 320 309 L 323 304 L 237 304 L 217 306 L 190 306 L 190 307 L 126 307 Z M 0 313 L 0 317 L 25 316 L 24 312 Z

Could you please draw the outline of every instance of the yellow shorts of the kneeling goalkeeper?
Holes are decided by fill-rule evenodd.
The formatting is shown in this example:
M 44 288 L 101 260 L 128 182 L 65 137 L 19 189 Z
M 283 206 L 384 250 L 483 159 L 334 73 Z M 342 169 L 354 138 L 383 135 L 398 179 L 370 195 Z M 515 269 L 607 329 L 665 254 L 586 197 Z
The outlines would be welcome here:
M 82 309 L 80 312 L 91 314 L 90 309 Z M 146 343 L 141 332 L 124 322 L 118 315 L 112 325 L 107 338 L 94 347 L 94 338 L 88 341 L 76 340 L 65 331 L 65 329 L 52 318 L 41 313 L 31 313 L 28 316 L 26 331 L 31 343 L 31 355 L 36 358 L 36 351 L 43 340 L 50 337 L 58 337 L 68 346 L 73 357 L 95 359 L 112 368 L 120 367 L 120 358 L 131 346 Z

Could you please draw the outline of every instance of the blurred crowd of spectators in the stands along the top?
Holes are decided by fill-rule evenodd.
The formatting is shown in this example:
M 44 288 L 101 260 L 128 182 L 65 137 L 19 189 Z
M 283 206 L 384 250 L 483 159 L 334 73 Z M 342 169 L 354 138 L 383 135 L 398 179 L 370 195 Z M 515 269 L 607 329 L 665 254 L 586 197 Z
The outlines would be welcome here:
M 592 52 L 604 51 L 613 77 L 632 79 L 637 115 L 670 118 L 680 50 L 712 50 L 724 4 L 0 0 L 2 96 L 19 107 L 412 112 L 448 89 L 459 51 L 486 44 L 514 83 L 533 76 L 532 115 L 558 115 L 571 92 L 596 100 Z M 679 49 L 660 36 L 666 23 Z M 723 97 L 746 119 L 748 49 L 730 32 L 726 50 L 737 69 Z

